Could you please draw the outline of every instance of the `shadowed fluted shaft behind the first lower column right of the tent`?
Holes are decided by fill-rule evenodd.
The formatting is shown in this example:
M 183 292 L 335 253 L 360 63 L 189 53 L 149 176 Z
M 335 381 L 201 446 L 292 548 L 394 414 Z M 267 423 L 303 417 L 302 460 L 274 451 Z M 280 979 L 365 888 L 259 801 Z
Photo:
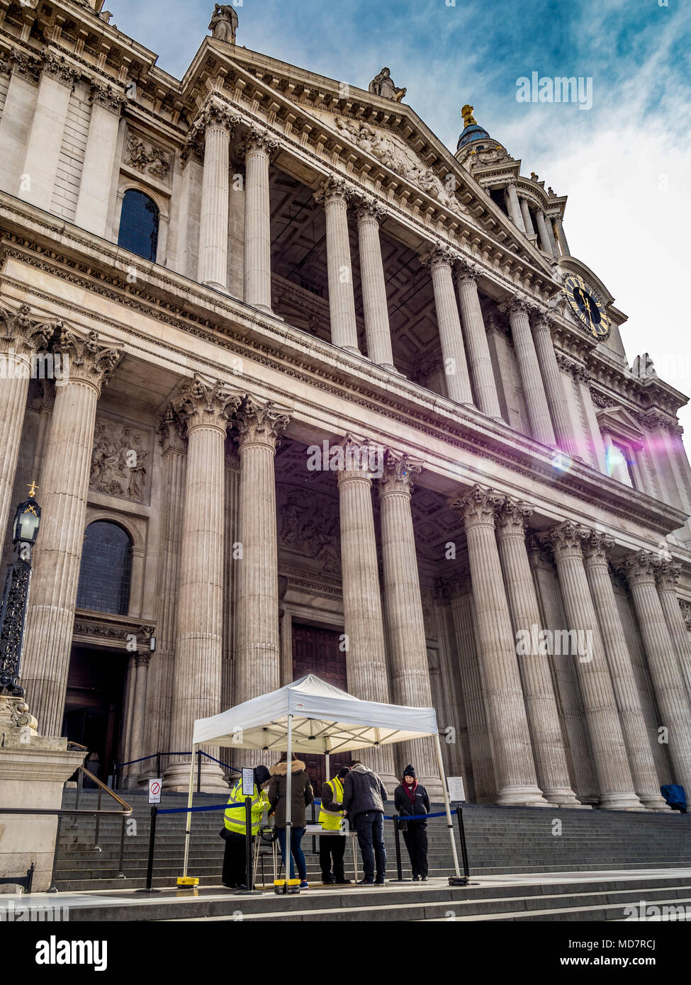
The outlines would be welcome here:
M 492 744 L 485 712 L 482 676 L 475 638 L 475 607 L 470 592 L 470 572 L 454 580 L 450 587 L 451 616 L 458 647 L 460 683 L 468 730 L 468 746 L 473 770 L 475 799 L 478 804 L 494 803 L 497 781 L 492 761 Z

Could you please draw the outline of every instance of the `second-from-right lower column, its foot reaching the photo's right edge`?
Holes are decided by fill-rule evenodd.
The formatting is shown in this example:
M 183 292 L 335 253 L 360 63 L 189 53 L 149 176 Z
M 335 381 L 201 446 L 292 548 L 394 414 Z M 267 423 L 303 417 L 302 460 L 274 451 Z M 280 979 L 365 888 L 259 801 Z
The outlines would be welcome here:
M 656 693 L 659 724 L 667 732 L 674 777 L 685 790 L 691 790 L 691 711 L 679 657 L 674 653 L 657 595 L 658 566 L 650 551 L 639 551 L 624 562 Z

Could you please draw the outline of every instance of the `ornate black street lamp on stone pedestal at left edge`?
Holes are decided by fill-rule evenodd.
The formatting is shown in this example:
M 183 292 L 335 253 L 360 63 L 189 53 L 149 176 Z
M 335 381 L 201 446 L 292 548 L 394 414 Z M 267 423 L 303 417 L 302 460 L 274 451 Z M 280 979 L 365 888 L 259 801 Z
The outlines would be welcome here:
M 40 527 L 40 506 L 35 501 L 35 483 L 29 499 L 20 503 L 12 527 L 14 558 L 7 567 L 5 591 L 0 609 L 0 693 L 24 697 L 20 686 L 24 623 L 32 580 L 32 548 Z

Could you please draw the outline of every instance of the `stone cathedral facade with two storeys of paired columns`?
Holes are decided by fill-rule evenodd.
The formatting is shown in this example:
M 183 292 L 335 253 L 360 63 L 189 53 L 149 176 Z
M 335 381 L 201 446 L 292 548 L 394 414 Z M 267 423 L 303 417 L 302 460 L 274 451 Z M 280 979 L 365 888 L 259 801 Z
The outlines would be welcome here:
M 471 802 L 665 810 L 686 397 L 627 361 L 566 196 L 471 106 L 449 150 L 388 69 L 247 50 L 217 5 L 177 80 L 101 6 L 0 0 L 0 519 L 7 559 L 35 482 L 39 732 L 181 790 L 195 718 L 314 673 L 434 705 Z M 373 757 L 439 796 L 431 743 Z

